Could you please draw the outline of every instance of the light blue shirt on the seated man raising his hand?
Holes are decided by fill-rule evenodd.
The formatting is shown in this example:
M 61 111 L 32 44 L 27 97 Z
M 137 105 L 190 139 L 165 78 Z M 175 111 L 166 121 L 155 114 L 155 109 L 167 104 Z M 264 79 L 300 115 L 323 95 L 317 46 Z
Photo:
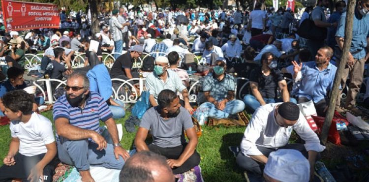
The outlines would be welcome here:
M 335 79 L 337 67 L 329 63 L 328 67 L 320 71 L 315 61 L 309 61 L 303 64 L 301 69 L 302 78 L 297 85 L 296 96 L 307 97 L 314 103 L 328 96 L 328 92 L 332 90 L 333 81 Z

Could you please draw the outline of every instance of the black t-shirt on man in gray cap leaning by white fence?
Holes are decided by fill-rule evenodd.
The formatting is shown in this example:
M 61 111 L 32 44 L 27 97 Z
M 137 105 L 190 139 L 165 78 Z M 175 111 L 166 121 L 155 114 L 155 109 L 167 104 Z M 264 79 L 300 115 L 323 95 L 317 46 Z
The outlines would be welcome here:
M 124 68 L 129 68 L 132 70 L 133 67 L 133 59 L 129 52 L 121 55 L 114 62 L 112 68 L 110 69 L 110 77 L 117 78 L 118 76 L 125 75 Z

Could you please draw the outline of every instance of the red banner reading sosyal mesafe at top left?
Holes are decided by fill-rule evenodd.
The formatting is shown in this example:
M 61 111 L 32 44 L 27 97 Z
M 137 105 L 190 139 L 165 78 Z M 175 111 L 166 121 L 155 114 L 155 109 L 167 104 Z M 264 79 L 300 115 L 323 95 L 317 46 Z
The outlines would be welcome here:
M 60 16 L 55 4 L 1 0 L 1 7 L 7 31 L 59 29 Z

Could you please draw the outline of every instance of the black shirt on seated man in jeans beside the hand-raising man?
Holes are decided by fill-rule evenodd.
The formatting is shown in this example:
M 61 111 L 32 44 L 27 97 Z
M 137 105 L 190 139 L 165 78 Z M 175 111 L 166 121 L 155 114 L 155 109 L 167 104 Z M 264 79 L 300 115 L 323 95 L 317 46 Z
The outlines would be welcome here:
M 263 98 L 276 98 L 278 82 L 284 80 L 279 69 L 272 69 L 268 76 L 261 71 L 261 66 L 254 68 L 250 74 L 250 82 L 258 84 L 258 90 Z

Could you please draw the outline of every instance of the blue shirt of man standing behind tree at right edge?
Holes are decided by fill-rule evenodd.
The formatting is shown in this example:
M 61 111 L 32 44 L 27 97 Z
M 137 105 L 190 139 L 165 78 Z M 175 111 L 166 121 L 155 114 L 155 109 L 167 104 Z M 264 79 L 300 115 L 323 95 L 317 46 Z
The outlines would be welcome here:
M 344 37 L 346 23 L 346 12 L 342 13 L 339 19 L 336 36 Z M 359 18 L 359 12 L 355 10 L 354 23 L 352 28 L 352 40 L 350 52 L 354 59 L 363 59 L 366 55 L 367 36 L 369 32 L 369 15 Z

